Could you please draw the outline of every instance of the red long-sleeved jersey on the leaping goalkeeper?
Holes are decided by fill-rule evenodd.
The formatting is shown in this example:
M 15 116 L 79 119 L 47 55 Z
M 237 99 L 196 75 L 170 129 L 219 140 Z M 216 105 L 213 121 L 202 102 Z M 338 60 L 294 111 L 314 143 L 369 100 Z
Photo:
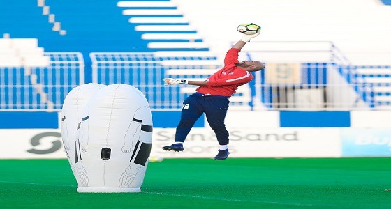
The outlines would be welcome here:
M 224 67 L 207 78 L 207 86 L 197 88 L 199 93 L 223 95 L 230 97 L 237 87 L 247 84 L 253 79 L 250 72 L 237 68 L 240 49 L 231 48 L 224 59 Z

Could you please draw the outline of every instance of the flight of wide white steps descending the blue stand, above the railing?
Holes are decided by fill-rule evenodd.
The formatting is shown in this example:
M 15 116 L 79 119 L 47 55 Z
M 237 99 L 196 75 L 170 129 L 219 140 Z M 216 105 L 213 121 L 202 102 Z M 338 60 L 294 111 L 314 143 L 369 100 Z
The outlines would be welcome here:
M 119 1 L 123 15 L 135 31 L 148 40 L 147 48 L 158 51 L 209 51 L 196 29 L 172 1 Z

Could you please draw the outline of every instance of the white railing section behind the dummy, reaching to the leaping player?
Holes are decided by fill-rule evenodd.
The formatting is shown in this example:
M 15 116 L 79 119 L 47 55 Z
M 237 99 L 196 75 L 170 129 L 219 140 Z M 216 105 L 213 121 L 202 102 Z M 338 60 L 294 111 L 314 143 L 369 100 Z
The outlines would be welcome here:
M 129 84 L 138 88 L 152 109 L 182 109 L 189 86 L 164 86 L 162 78 L 205 79 L 220 67 L 215 56 L 205 52 L 91 53 L 92 80 L 100 84 Z M 177 54 L 176 54 L 177 55 Z

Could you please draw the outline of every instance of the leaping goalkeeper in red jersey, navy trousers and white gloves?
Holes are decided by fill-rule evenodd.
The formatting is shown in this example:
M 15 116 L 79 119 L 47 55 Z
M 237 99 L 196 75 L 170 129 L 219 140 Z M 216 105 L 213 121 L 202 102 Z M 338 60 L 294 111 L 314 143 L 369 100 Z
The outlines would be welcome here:
M 190 84 L 199 86 L 197 92 L 189 95 L 183 102 L 181 120 L 175 132 L 175 144 L 164 146 L 163 150 L 183 151 L 183 143 L 195 121 L 205 113 L 207 121 L 216 134 L 219 142 L 219 153 L 214 160 L 225 160 L 228 150 L 228 131 L 224 124 L 229 98 L 239 86 L 247 84 L 253 79 L 251 72 L 263 70 L 265 65 L 260 61 L 238 61 L 240 50 L 250 42 L 251 38 L 259 35 L 243 35 L 242 39 L 228 50 L 224 59 L 224 67 L 208 77 L 205 81 L 191 81 L 187 79 L 164 78 L 165 85 Z

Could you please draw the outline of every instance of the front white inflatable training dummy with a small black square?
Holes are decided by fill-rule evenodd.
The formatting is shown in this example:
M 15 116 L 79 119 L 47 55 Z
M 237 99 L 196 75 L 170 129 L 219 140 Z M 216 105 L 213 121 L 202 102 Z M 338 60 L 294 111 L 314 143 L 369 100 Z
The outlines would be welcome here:
M 152 114 L 137 88 L 113 84 L 96 91 L 77 132 L 78 192 L 141 191 L 152 147 Z

